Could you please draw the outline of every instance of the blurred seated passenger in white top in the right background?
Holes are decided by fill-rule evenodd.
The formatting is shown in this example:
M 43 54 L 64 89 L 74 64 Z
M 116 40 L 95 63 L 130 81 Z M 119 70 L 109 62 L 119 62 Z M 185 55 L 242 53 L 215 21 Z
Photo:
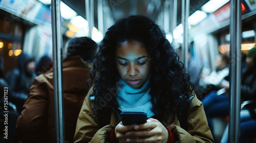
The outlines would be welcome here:
M 210 74 L 204 73 L 202 70 L 201 79 L 199 82 L 200 88 L 198 88 L 199 96 L 202 99 L 212 90 L 221 89 L 220 83 L 229 74 L 229 53 L 220 54 L 216 56 L 215 66 L 216 70 L 211 71 Z

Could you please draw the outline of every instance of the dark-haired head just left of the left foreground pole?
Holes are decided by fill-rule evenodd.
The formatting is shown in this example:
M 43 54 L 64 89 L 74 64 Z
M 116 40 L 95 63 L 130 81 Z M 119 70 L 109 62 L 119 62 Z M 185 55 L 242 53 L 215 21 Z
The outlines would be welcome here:
M 36 66 L 36 74 L 44 74 L 47 70 L 49 70 L 52 67 L 52 59 L 48 56 L 43 56 L 39 60 L 37 66 Z

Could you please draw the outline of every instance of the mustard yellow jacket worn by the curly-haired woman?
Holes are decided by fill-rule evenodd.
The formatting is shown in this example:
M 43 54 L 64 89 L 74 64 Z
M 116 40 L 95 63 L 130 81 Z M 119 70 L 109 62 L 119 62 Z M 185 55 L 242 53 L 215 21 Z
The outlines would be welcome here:
M 91 88 L 88 95 L 92 92 L 93 90 Z M 120 120 L 114 111 L 112 111 L 110 124 L 99 128 L 98 124 L 94 121 L 92 109 L 93 104 L 88 97 L 89 96 L 84 98 L 84 102 L 78 116 L 74 142 L 108 142 L 112 129 L 120 122 Z M 203 104 L 196 96 L 193 98 L 188 111 L 187 130 L 180 127 L 177 115 L 175 116 L 175 119 L 169 117 L 168 120 L 170 122 L 174 121 L 174 125 L 167 124 L 170 122 L 162 122 L 162 124 L 169 128 L 176 136 L 176 142 L 214 142 L 211 131 L 208 127 Z

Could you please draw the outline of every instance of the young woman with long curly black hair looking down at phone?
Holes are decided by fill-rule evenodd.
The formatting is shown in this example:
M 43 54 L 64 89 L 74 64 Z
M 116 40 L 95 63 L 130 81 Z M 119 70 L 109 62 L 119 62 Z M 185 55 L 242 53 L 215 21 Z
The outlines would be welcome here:
M 117 21 L 95 53 L 95 84 L 74 142 L 214 142 L 184 65 L 154 21 Z M 148 120 L 124 126 L 121 111 L 145 112 Z

